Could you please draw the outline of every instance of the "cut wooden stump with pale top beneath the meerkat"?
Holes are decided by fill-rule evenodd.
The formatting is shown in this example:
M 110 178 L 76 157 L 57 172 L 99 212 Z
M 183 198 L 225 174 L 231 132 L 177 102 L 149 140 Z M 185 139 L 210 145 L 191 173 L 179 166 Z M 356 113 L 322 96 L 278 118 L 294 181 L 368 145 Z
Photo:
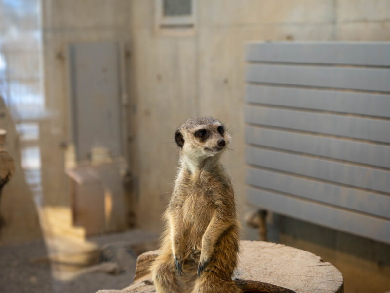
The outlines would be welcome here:
M 296 293 L 342 293 L 343 276 L 332 264 L 310 252 L 263 241 L 241 241 L 240 260 L 233 278 L 275 284 Z M 148 251 L 137 259 L 134 283 L 122 290 L 98 293 L 152 293 L 149 265 L 159 251 Z

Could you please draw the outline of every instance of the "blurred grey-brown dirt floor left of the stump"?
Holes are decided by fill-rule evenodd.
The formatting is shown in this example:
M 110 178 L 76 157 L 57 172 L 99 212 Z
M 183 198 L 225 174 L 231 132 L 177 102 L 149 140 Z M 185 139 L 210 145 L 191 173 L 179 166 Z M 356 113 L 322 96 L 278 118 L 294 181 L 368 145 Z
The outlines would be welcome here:
M 122 289 L 133 282 L 137 255 L 155 249 L 157 237 L 142 230 L 129 230 L 88 238 L 100 248 L 98 263 L 73 270 L 66 280 L 53 277 L 53 267 L 58 264 L 47 258 L 43 241 L 2 246 L 0 292 L 95 293 L 100 289 Z

